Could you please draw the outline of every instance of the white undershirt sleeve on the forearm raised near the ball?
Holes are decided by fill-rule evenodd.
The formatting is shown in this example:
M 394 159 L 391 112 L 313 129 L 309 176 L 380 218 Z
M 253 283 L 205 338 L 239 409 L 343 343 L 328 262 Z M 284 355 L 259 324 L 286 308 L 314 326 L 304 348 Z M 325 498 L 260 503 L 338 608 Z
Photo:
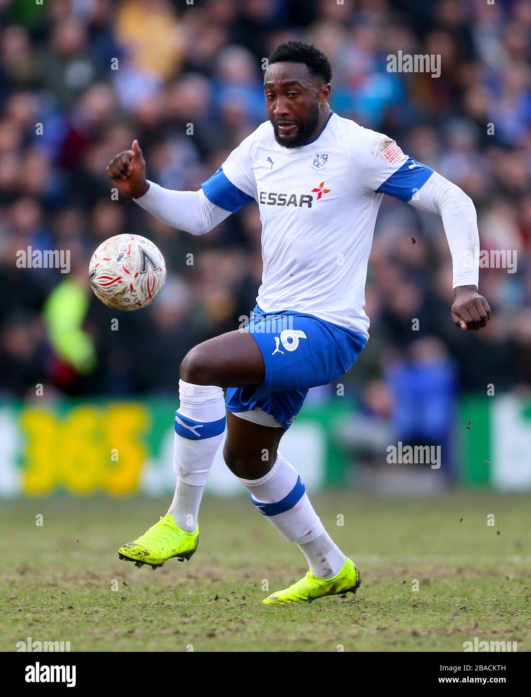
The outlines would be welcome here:
M 141 208 L 155 215 L 178 230 L 202 235 L 219 225 L 231 215 L 208 200 L 202 189 L 199 191 L 174 191 L 149 182 L 144 196 L 133 199 Z

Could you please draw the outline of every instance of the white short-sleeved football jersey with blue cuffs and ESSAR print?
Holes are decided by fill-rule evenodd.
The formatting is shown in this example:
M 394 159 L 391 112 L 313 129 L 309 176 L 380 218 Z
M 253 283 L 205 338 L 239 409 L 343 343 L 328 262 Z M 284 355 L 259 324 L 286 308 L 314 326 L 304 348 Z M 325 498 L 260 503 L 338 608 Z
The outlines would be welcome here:
M 258 203 L 265 312 L 312 314 L 368 337 L 364 288 L 382 196 L 409 201 L 431 174 L 391 138 L 332 112 L 299 148 L 277 144 L 262 123 L 201 186 L 225 210 Z

